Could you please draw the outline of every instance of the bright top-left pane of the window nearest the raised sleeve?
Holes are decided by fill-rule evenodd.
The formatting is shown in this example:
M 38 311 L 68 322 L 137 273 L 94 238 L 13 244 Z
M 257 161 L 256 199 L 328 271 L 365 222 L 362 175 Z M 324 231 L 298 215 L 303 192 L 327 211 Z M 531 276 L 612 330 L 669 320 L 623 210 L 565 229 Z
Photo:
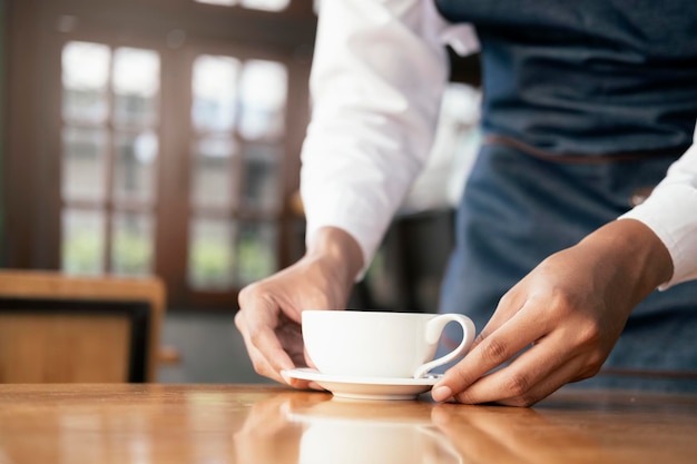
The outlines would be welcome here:
M 237 105 L 239 61 L 200 56 L 194 62 L 192 118 L 199 130 L 232 130 Z

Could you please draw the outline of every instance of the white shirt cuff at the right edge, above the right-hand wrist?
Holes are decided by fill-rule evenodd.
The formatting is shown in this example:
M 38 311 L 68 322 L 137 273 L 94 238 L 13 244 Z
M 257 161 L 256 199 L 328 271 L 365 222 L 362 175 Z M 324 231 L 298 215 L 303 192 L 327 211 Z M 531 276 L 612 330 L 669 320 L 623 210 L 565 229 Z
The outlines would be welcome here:
M 646 224 L 670 253 L 673 277 L 660 289 L 697 278 L 697 127 L 694 145 L 646 201 L 620 216 L 627 218 Z

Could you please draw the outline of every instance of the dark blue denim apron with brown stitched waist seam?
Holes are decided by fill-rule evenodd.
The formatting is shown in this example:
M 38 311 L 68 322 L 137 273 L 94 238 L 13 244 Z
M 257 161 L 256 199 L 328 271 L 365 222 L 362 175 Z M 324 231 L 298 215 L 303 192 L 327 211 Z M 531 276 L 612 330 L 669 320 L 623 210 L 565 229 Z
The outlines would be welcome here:
M 481 330 L 508 289 L 627 211 L 690 146 L 697 1 L 435 2 L 475 27 L 482 50 L 484 142 L 440 307 Z M 577 385 L 697 391 L 697 377 L 675 379 L 697 373 L 697 282 L 645 298 L 603 371 L 654 375 Z

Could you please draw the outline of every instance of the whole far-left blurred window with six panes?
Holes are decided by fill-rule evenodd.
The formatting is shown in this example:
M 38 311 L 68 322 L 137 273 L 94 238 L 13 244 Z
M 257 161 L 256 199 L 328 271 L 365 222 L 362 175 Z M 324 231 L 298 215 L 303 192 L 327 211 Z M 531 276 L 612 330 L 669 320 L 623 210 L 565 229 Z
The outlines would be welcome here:
M 61 268 L 150 274 L 159 55 L 70 41 L 61 61 Z

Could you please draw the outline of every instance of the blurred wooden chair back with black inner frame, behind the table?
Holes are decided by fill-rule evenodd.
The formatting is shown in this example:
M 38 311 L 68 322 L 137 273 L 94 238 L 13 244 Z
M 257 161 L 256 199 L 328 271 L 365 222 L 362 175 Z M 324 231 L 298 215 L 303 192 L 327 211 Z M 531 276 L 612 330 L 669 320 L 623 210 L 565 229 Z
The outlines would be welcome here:
M 158 278 L 0 270 L 0 383 L 154 382 Z

